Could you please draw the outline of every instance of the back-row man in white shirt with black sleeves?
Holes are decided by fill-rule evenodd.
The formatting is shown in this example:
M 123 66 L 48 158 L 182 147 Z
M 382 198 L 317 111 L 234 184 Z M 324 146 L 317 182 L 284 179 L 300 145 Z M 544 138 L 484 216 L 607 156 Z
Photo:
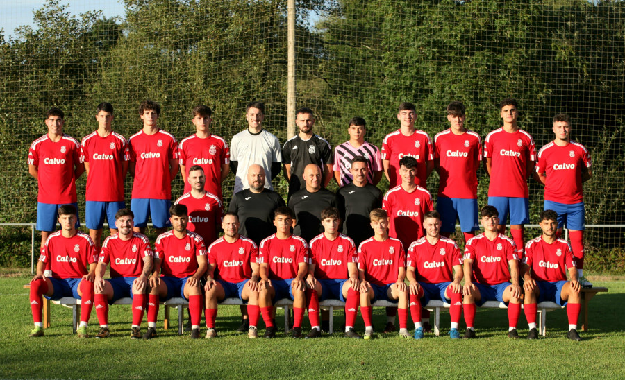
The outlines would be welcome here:
M 247 169 L 252 164 L 259 164 L 269 173 L 265 187 L 273 190 L 272 180 L 280 174 L 282 151 L 278 137 L 263 129 L 265 121 L 265 105 L 253 101 L 247 105 L 245 114 L 247 130 L 233 136 L 230 144 L 230 166 L 235 173 L 234 193 L 247 189 L 245 180 Z

